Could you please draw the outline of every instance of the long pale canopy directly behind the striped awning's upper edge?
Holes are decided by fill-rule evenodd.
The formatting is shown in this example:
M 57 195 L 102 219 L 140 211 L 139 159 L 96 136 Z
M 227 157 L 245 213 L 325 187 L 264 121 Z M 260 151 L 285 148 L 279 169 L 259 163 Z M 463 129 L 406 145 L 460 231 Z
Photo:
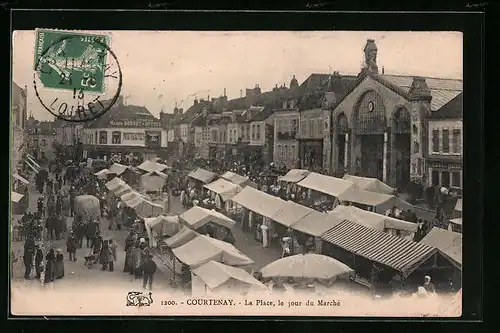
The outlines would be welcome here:
M 348 220 L 375 230 L 385 231 L 385 229 L 404 230 L 416 232 L 418 225 L 392 218 L 383 214 L 369 212 L 354 206 L 339 205 L 329 212 L 341 220 Z

